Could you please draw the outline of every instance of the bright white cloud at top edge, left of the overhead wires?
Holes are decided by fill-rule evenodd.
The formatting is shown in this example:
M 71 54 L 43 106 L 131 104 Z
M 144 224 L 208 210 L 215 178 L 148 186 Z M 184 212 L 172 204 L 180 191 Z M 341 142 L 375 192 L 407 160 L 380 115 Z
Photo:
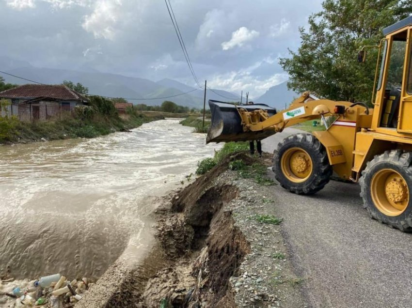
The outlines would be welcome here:
M 96 1 L 93 13 L 84 16 L 83 29 L 92 32 L 95 38 L 113 40 L 121 6 L 121 0 Z

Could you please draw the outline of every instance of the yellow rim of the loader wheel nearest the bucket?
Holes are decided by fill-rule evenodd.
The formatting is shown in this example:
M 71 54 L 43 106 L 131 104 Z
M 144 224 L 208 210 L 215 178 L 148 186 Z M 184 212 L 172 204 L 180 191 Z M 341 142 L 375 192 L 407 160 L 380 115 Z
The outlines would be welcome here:
M 289 181 L 302 183 L 312 174 L 313 163 L 305 150 L 301 148 L 290 148 L 282 155 L 281 168 L 283 174 Z

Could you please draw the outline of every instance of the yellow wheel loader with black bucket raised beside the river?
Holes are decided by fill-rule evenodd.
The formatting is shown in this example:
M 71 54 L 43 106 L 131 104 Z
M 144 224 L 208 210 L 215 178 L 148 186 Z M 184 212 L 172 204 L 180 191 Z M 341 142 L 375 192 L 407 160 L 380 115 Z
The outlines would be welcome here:
M 412 16 L 384 29 L 372 104 L 335 102 L 302 94 L 277 113 L 267 105 L 209 101 L 206 142 L 261 140 L 285 127 L 322 119 L 325 131 L 296 134 L 279 143 L 273 171 L 296 194 L 314 194 L 334 172 L 359 182 L 370 216 L 412 231 Z M 358 61 L 365 61 L 365 46 Z M 376 90 L 375 90 L 376 89 Z

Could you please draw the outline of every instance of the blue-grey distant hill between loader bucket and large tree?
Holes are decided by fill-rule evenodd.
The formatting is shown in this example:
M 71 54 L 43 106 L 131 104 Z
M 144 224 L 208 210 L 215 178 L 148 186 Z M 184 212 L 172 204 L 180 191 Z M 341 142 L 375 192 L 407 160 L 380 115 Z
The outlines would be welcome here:
M 300 94 L 287 90 L 287 81 L 271 87 L 265 94 L 255 99 L 255 103 L 267 104 L 270 107 L 283 110 Z

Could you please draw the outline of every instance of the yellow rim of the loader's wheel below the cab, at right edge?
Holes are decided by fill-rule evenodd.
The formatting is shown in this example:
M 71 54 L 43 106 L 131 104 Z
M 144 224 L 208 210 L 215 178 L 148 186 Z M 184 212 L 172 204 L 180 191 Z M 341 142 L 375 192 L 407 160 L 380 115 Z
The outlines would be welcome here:
M 386 216 L 401 215 L 409 204 L 408 185 L 393 169 L 382 169 L 373 175 L 370 194 L 376 208 Z

